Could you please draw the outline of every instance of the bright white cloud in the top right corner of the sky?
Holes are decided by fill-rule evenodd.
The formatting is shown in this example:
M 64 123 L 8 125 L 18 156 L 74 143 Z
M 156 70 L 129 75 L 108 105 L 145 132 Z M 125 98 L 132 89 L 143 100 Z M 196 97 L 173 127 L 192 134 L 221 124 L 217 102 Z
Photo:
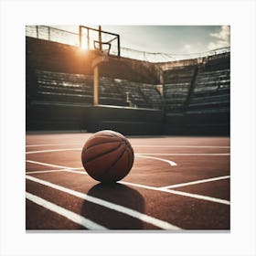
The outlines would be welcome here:
M 208 49 L 226 48 L 230 46 L 230 27 L 222 26 L 219 33 L 210 33 L 215 40 L 208 43 Z

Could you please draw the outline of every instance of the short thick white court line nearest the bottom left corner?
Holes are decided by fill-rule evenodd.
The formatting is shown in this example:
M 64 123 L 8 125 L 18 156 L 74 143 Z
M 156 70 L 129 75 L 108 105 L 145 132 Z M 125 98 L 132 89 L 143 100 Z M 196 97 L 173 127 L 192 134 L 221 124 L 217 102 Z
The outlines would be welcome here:
M 37 204 L 38 206 L 47 208 L 55 213 L 58 213 L 59 215 L 65 217 L 67 219 L 70 219 L 71 221 L 73 221 L 77 224 L 80 224 L 81 226 L 83 226 L 86 229 L 93 229 L 93 230 L 106 229 L 105 227 L 91 221 L 90 219 L 86 219 L 86 218 L 80 216 L 79 214 L 70 211 L 69 209 L 61 208 L 58 205 L 53 204 L 41 197 L 37 197 L 33 194 L 26 192 L 26 198 L 28 200 L 32 201 L 33 203 Z

